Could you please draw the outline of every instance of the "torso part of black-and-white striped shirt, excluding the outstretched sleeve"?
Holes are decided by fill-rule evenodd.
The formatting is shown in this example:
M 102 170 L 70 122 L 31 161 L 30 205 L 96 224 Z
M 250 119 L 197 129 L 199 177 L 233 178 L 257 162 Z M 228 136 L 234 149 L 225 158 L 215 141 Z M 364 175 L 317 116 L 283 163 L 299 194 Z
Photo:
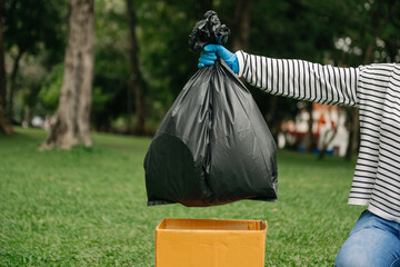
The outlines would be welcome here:
M 360 151 L 350 205 L 400 222 L 400 67 L 370 65 L 359 79 Z

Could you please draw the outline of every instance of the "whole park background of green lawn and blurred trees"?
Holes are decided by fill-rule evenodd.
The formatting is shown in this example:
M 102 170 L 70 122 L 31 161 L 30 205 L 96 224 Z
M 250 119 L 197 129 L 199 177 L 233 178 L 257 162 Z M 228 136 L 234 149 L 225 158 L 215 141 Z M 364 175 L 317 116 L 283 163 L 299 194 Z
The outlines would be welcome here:
M 198 70 L 188 37 L 210 9 L 231 51 L 400 61 L 398 0 L 0 0 L 0 266 L 154 266 L 163 218 L 268 220 L 266 266 L 333 266 L 364 209 L 346 206 L 354 108 L 246 83 L 284 148 L 280 200 L 146 206 L 143 158 Z

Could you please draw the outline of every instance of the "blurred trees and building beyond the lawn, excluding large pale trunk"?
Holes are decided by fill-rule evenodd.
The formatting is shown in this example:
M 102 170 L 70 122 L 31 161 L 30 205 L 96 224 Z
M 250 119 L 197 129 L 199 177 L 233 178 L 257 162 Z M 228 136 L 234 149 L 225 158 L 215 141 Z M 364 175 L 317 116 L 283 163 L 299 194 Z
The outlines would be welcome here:
M 199 55 L 188 36 L 207 10 L 231 29 L 227 47 L 273 58 L 358 67 L 400 61 L 394 0 L 1 0 L 0 129 L 57 121 L 71 10 L 94 4 L 90 129 L 156 132 Z M 78 70 L 79 71 L 79 70 Z M 280 148 L 351 158 L 358 111 L 251 90 Z

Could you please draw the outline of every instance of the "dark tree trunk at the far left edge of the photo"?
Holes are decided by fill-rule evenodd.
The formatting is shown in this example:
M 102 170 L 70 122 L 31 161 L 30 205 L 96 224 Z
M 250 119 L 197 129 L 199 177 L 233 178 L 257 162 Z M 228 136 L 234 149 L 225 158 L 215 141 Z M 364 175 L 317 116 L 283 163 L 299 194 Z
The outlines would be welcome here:
M 4 39 L 3 21 L 6 18 L 6 1 L 0 0 L 0 134 L 10 134 L 11 127 L 6 122 L 6 66 L 4 66 Z

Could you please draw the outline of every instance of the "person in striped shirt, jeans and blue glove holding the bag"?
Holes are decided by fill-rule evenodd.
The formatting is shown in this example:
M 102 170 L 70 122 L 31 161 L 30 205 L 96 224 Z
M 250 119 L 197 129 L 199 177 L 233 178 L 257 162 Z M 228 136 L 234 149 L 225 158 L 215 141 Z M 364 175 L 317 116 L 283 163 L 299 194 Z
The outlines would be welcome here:
M 368 209 L 342 245 L 336 266 L 400 266 L 400 65 L 339 68 L 208 44 L 198 67 L 211 66 L 218 57 L 266 92 L 359 108 L 360 150 L 349 205 Z

